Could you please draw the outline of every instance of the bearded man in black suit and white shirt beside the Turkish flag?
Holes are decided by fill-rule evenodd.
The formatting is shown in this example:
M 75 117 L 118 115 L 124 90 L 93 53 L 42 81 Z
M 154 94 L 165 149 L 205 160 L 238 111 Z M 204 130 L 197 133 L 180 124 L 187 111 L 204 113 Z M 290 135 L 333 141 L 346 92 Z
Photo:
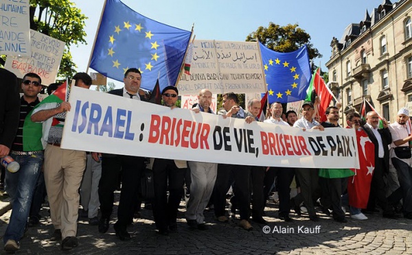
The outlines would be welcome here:
M 383 210 L 382 216 L 393 219 L 395 218 L 395 213 L 393 213 L 393 208 L 389 205 L 385 195 L 385 182 L 383 180 L 384 173 L 389 171 L 388 145 L 392 142 L 392 136 L 391 132 L 389 132 L 387 121 L 382 119 L 382 123 L 383 128 L 378 129 L 378 113 L 374 111 L 367 112 L 366 124 L 363 125 L 363 130 L 365 130 L 367 136 L 375 145 L 375 169 L 372 175 L 371 192 L 369 193 L 369 201 L 365 213 L 373 213 L 375 204 L 378 202 Z

